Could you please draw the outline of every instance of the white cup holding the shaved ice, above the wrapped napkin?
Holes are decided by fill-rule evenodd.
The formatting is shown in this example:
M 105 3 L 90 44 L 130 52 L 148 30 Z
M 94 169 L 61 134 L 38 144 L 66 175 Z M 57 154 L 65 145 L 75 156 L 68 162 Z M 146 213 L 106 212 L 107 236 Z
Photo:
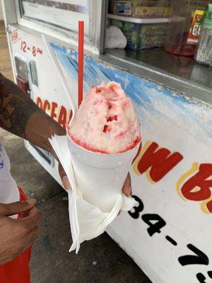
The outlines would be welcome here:
M 83 199 L 101 212 L 110 212 L 122 193 L 140 143 L 122 154 L 98 154 L 78 146 L 68 135 L 67 138 L 76 184 L 83 192 Z

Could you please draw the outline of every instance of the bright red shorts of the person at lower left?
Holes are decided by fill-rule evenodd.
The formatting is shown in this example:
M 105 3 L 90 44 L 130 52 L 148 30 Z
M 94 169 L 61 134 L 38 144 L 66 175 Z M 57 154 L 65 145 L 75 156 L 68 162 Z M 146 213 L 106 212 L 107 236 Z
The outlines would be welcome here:
M 18 189 L 20 200 L 27 200 L 23 190 Z M 5 265 L 0 265 L 0 283 L 30 283 L 30 255 L 31 248 L 25 250 L 24 253 Z

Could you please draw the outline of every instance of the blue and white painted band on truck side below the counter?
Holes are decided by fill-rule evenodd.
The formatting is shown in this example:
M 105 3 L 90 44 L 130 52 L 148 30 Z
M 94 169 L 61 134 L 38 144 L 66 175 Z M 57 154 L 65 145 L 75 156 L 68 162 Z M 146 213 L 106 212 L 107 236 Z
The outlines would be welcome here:
M 59 62 L 63 65 L 74 81 L 77 81 L 77 52 L 67 50 L 51 43 Z M 85 57 L 84 61 L 84 91 L 87 93 L 92 85 L 102 81 L 117 81 L 133 100 L 141 121 L 151 130 L 153 120 L 160 123 L 169 121 L 174 125 L 184 125 L 184 128 L 200 140 L 212 138 L 212 109 L 197 101 L 189 100 L 179 93 L 163 88 L 151 81 L 134 74 L 115 69 L 97 60 Z

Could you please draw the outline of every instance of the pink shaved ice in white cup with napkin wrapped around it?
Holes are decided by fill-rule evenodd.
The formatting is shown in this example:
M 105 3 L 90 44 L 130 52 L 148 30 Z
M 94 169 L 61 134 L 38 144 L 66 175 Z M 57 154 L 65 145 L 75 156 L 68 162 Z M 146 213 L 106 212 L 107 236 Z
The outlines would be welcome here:
M 67 125 L 67 135 L 50 140 L 71 183 L 69 217 L 76 253 L 83 241 L 105 231 L 120 210 L 136 204 L 122 193 L 141 144 L 134 106 L 119 83 L 101 83 Z

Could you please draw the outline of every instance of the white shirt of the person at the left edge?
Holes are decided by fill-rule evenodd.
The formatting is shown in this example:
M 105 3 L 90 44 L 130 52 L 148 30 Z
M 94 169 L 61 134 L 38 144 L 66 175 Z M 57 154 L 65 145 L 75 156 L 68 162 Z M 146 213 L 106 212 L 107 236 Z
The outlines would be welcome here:
M 4 146 L 0 144 L 0 203 L 4 204 L 20 200 L 18 187 L 10 171 L 11 163 Z

